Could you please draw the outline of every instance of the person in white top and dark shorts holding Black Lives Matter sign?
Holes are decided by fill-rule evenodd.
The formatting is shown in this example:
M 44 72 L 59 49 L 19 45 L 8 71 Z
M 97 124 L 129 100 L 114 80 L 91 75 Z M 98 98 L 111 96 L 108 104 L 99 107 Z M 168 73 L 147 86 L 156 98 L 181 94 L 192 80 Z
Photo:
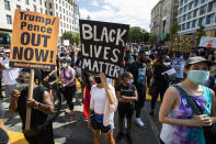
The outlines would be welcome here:
M 115 144 L 113 139 L 114 112 L 117 99 L 114 88 L 106 82 L 103 73 L 94 77 L 96 85 L 91 87 L 90 112 L 88 126 L 92 129 L 94 144 L 100 144 L 101 133 L 109 144 Z

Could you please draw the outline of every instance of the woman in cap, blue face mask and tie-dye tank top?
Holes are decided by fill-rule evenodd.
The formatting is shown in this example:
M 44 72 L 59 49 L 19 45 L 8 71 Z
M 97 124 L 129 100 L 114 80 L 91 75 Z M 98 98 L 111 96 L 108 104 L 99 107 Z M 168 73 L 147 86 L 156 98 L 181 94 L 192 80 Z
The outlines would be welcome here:
M 204 135 L 204 128 L 216 123 L 215 93 L 203 86 L 209 77 L 209 66 L 203 57 L 189 58 L 185 80 L 166 91 L 159 112 L 162 143 L 209 144 L 208 141 L 215 141 Z

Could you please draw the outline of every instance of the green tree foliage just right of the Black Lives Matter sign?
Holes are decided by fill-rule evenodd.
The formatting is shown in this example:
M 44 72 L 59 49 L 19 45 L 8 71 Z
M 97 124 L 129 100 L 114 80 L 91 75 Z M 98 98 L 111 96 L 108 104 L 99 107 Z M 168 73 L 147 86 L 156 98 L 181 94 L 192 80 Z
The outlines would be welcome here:
M 149 33 L 139 26 L 134 26 L 129 29 L 128 42 L 130 43 L 147 43 L 149 40 Z

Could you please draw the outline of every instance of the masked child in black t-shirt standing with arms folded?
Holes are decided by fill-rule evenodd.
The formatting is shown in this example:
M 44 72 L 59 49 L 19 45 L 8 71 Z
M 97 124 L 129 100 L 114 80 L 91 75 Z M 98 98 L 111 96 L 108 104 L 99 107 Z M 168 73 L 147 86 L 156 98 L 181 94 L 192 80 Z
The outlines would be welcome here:
M 135 101 L 138 100 L 137 89 L 134 82 L 134 77 L 130 73 L 125 71 L 123 74 L 123 81 L 116 89 L 116 96 L 118 99 L 118 128 L 120 133 L 117 134 L 116 142 L 120 142 L 123 136 L 123 121 L 124 118 L 127 118 L 127 130 L 126 130 L 126 139 L 129 144 L 133 143 L 130 136 L 132 129 L 132 117 L 135 109 Z

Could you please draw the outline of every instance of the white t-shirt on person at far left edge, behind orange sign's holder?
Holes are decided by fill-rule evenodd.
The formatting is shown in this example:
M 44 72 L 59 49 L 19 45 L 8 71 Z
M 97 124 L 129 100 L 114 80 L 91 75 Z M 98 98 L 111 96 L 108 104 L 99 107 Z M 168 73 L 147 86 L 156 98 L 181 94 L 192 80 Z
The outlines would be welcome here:
M 2 70 L 2 80 L 4 85 L 16 85 L 19 68 L 9 67 L 9 59 L 2 60 L 5 69 Z

